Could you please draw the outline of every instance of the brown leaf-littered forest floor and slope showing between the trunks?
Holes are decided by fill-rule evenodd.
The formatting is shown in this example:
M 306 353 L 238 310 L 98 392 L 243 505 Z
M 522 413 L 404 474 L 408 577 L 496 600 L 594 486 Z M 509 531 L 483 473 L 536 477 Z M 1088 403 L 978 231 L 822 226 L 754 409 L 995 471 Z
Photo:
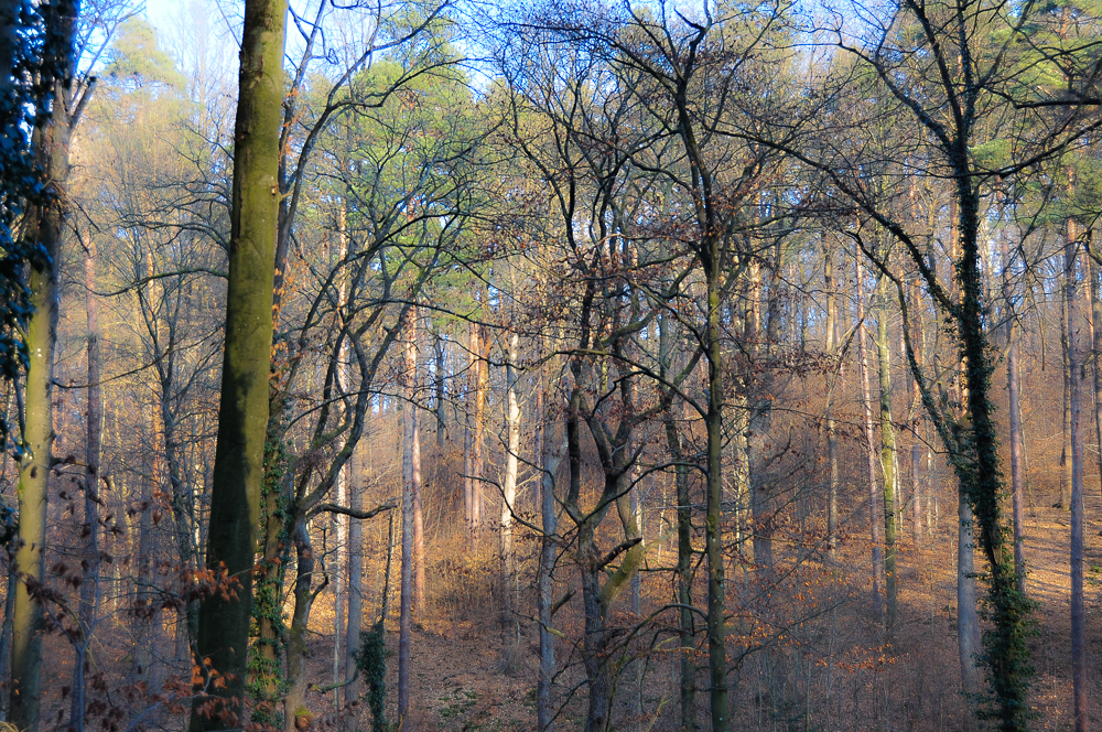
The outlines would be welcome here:
M 943 493 L 943 492 L 942 492 Z M 1037 675 L 1030 704 L 1037 713 L 1035 730 L 1058 732 L 1071 729 L 1071 677 L 1067 664 L 1069 629 L 1069 515 L 1051 507 L 1059 494 L 1031 491 L 1026 514 L 1026 557 L 1029 567 L 1028 594 L 1039 603 L 1036 636 L 1030 642 Z M 855 523 L 861 525 L 864 506 L 854 506 Z M 1102 497 L 1096 485 L 1087 497 L 1085 560 L 1088 566 L 1088 640 L 1091 658 L 1102 658 Z M 912 527 L 906 525 L 900 543 L 899 622 L 893 637 L 884 635 L 883 621 L 873 612 L 871 588 L 855 585 L 847 577 L 861 575 L 857 569 L 867 563 L 867 542 L 851 537 L 839 552 L 839 571 L 815 562 L 797 570 L 791 581 L 778 582 L 776 604 L 802 605 L 812 615 L 796 624 L 786 637 L 748 655 L 733 674 L 732 720 L 735 730 L 789 732 L 797 730 L 857 731 L 916 730 L 955 732 L 977 728 L 972 706 L 960 692 L 957 664 L 957 529 L 955 500 L 940 496 L 930 507 L 930 529 L 923 520 L 916 543 Z M 926 516 L 923 515 L 923 519 Z M 368 536 L 368 582 L 365 605 L 377 612 L 385 557 L 385 528 L 374 539 Z M 434 536 L 435 535 L 435 536 Z M 426 537 L 429 557 L 428 609 L 413 626 L 410 692 L 412 722 L 420 730 L 460 732 L 527 732 L 532 729 L 536 707 L 536 676 L 539 665 L 531 588 L 521 591 L 519 644 L 503 637 L 499 613 L 500 588 L 497 583 L 496 541 L 487 532 L 480 549 L 471 553 L 465 537 L 446 526 Z M 522 549 L 523 551 L 523 549 Z M 667 550 L 668 551 L 668 550 Z M 530 566 L 531 557 L 529 557 Z M 849 570 L 844 569 L 850 562 Z M 867 574 L 867 572 L 864 572 Z M 737 574 L 736 574 L 737 575 Z M 522 582 L 531 581 L 526 577 Z M 747 586 L 754 580 L 747 581 Z M 669 602 L 668 582 L 644 582 L 644 613 Z M 323 596 L 311 616 L 309 665 L 312 683 L 324 686 L 332 678 L 334 614 L 332 600 Z M 835 606 L 836 605 L 836 606 Z M 391 607 L 397 604 L 392 601 Z M 821 613 L 814 612 L 818 606 Z M 831 609 L 833 607 L 833 609 Z M 370 610 L 375 609 L 375 610 Z M 778 613 L 778 616 L 784 613 Z M 374 615 L 372 615 L 374 616 Z M 566 637 L 581 633 L 581 613 L 563 611 L 558 625 Z M 620 618 L 630 625 L 634 617 Z M 132 624 L 116 618 L 117 632 L 104 627 L 97 634 L 99 663 L 116 671 L 130 669 L 133 658 L 121 655 L 130 647 Z M 387 670 L 388 718 L 397 709 L 398 618 L 391 613 L 387 624 L 389 656 Z M 171 638 L 173 626 L 162 629 Z M 517 632 L 515 627 L 514 633 Z M 516 637 L 516 636 L 512 636 Z M 171 646 L 171 643 L 169 644 Z M 166 646 L 166 647 L 169 647 Z M 563 653 L 569 654 L 564 649 Z M 677 699 L 679 655 L 661 647 L 635 650 L 647 664 L 641 689 L 636 686 L 618 693 L 617 730 L 680 729 Z M 65 680 L 72 675 L 72 650 L 57 634 L 48 636 L 47 677 L 52 679 L 46 719 L 63 721 L 67 713 L 62 699 Z M 183 668 L 171 659 L 150 658 L 156 665 L 156 681 Z M 636 663 L 644 663 L 636 661 Z M 706 677 L 706 658 L 701 664 L 699 682 Z M 175 671 L 172 667 L 175 666 Z M 116 677 L 118 688 L 127 686 L 125 675 Z M 629 671 L 620 683 L 631 683 Z M 575 664 L 568 667 L 559 683 L 574 688 L 575 698 L 564 703 L 560 721 L 565 729 L 581 729 L 585 719 L 585 697 L 581 691 L 584 674 Z M 170 682 L 171 687 L 172 683 Z M 638 707 L 633 708 L 634 699 Z M 306 706 L 313 714 L 311 725 L 342 729 L 349 717 L 358 719 L 359 729 L 370 729 L 371 717 L 363 700 L 336 709 L 332 692 L 311 691 Z M 1092 728 L 1102 724 L 1102 687 L 1091 693 Z M 638 710 L 641 709 L 640 713 Z M 140 710 L 138 710 L 140 711 Z M 706 720 L 701 704 L 700 718 Z M 153 713 L 154 726 L 179 729 L 179 718 Z

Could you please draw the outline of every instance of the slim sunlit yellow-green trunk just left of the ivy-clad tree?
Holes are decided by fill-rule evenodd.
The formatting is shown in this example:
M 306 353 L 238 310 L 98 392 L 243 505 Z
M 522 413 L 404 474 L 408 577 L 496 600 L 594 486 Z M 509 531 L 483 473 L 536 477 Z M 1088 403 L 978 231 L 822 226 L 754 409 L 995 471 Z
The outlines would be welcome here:
M 895 428 L 892 424 L 892 344 L 888 340 L 887 284 L 887 279 L 880 280 L 880 291 L 877 295 L 876 363 L 879 384 L 880 475 L 884 478 L 884 579 L 887 590 L 885 625 L 888 632 L 892 632 L 895 628 L 899 605 L 899 584 L 896 573 L 896 528 L 899 514 L 896 507 L 898 456 Z

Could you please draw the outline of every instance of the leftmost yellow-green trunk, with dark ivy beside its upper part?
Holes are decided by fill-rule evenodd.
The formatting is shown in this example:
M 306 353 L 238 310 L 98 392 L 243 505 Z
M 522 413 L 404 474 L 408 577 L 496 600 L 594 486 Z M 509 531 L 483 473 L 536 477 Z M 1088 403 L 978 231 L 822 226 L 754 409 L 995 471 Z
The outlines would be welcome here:
M 58 269 L 69 202 L 65 183 L 69 173 L 72 136 L 71 82 L 75 71 L 73 41 L 77 0 L 62 0 L 45 6 L 46 31 L 56 54 L 51 61 L 60 66 L 54 85 L 53 118 L 34 134 L 35 155 L 43 177 L 50 181 L 52 200 L 29 212 L 30 236 L 37 236 L 46 261 L 35 262 L 30 272 L 31 305 L 34 314 L 26 326 L 24 343 L 29 356 L 23 401 L 24 453 L 19 464 L 19 534 L 15 568 L 20 582 L 15 588 L 12 613 L 12 683 L 9 719 L 17 729 L 39 729 L 42 697 L 42 636 L 44 613 L 33 591 L 45 580 L 46 503 L 53 443 L 54 346 L 57 342 Z

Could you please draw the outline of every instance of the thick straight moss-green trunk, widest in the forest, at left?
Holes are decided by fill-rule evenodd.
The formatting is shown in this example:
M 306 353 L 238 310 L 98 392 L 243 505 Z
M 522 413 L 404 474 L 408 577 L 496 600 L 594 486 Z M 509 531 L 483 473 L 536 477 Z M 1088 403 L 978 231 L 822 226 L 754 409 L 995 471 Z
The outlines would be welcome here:
M 199 697 L 191 728 L 245 723 L 252 564 L 260 521 L 272 345 L 272 291 L 279 216 L 279 131 L 283 103 L 287 0 L 247 0 L 234 139 L 229 286 L 218 442 L 212 478 L 207 568 L 226 572 L 235 594 L 213 593 L 199 607 L 198 657 L 224 675 L 210 683 L 227 713 Z M 204 669 L 203 676 L 206 676 Z M 203 678 L 201 687 L 206 687 Z

